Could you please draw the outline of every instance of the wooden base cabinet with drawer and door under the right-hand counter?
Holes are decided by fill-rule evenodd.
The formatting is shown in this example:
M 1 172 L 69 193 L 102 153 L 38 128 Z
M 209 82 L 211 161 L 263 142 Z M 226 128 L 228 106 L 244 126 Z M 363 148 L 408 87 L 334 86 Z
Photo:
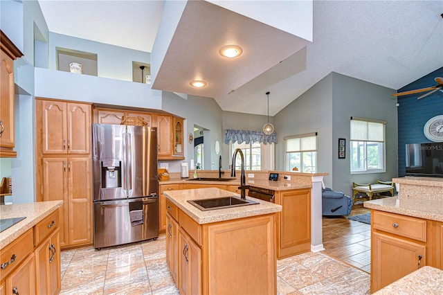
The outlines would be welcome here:
M 435 222 L 371 211 L 371 293 L 419 267 L 437 267 Z

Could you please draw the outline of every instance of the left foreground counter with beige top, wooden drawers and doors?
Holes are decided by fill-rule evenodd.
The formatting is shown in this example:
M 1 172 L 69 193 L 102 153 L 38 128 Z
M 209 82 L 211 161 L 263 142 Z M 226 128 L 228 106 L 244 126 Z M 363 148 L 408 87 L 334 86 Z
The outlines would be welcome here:
M 25 217 L 0 233 L 0 294 L 60 292 L 62 201 L 0 205 L 1 222 Z

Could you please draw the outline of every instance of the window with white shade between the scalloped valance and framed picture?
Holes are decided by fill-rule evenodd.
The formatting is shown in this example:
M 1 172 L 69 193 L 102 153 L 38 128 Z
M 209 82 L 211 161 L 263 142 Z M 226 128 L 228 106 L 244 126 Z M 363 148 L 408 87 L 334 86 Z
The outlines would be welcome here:
M 286 146 L 285 170 L 317 171 L 317 134 L 309 133 L 284 137 Z

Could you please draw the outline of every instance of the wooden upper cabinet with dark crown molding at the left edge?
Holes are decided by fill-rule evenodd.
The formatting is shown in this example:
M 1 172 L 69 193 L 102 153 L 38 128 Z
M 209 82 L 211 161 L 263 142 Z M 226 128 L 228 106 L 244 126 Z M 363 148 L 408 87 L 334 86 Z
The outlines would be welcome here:
M 14 60 L 23 54 L 0 30 L 0 157 L 17 157 L 14 118 Z

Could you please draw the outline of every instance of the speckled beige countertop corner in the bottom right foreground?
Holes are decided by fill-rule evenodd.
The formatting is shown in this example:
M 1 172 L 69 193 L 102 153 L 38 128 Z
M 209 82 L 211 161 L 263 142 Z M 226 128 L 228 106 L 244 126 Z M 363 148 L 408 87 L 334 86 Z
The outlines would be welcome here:
M 422 267 L 387 285 L 374 294 L 443 294 L 443 271 L 434 267 Z

